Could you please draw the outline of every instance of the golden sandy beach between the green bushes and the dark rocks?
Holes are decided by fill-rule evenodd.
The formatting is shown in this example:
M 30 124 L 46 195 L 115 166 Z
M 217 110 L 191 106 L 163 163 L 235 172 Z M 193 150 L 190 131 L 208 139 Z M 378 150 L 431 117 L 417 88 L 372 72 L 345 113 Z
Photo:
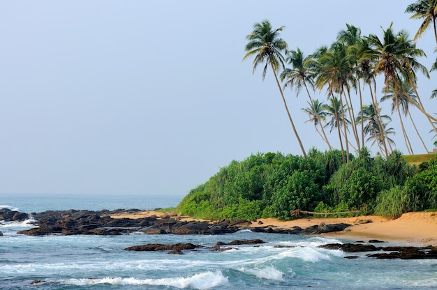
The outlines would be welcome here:
M 175 217 L 175 213 L 161 213 L 156 211 L 139 211 L 112 215 L 112 217 L 141 218 L 156 215 Z M 179 217 L 181 220 L 193 220 L 190 217 Z M 262 224 L 258 224 L 261 221 Z M 279 227 L 291 229 L 292 227 L 306 228 L 315 224 L 353 224 L 345 231 L 324 234 L 333 238 L 344 238 L 351 241 L 367 241 L 378 239 L 380 241 L 392 241 L 399 243 L 434 245 L 437 246 L 437 212 L 429 213 L 404 213 L 397 219 L 387 219 L 376 215 L 363 215 L 357 217 L 311 217 L 297 220 L 281 221 L 274 218 L 259 219 L 249 227 Z

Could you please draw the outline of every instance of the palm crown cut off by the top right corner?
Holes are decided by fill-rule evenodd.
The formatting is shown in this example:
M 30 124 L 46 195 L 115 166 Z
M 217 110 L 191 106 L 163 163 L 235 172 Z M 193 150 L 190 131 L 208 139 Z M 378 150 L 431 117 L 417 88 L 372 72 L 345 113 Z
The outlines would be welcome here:
M 417 30 L 416 35 L 414 36 L 414 40 L 420 38 L 422 33 L 429 28 L 429 24 L 432 23 L 434 26 L 434 37 L 436 38 L 437 43 L 437 0 L 417 0 L 415 3 L 407 6 L 405 13 L 413 13 L 410 19 L 423 20 L 422 24 L 420 24 L 420 27 Z

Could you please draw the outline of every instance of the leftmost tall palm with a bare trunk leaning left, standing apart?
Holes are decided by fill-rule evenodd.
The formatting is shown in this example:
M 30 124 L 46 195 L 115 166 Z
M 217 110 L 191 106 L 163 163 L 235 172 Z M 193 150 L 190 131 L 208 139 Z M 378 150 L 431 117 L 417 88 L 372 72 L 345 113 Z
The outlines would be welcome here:
M 281 93 L 283 104 L 286 107 L 292 130 L 296 135 L 297 142 L 299 142 L 299 146 L 302 150 L 304 158 L 306 158 L 304 146 L 302 145 L 299 135 L 297 134 L 295 123 L 292 121 L 286 98 L 283 96 L 281 84 L 279 84 L 279 79 L 276 75 L 276 72 L 278 72 L 280 68 L 283 68 L 284 57 L 281 52 L 286 50 L 288 47 L 286 41 L 279 37 L 279 32 L 282 31 L 284 27 L 285 26 L 281 26 L 278 29 L 272 29 L 272 25 L 268 20 L 265 20 L 261 23 L 255 23 L 253 25 L 253 32 L 246 36 L 246 39 L 249 40 L 249 43 L 247 43 L 245 47 L 246 54 L 244 55 L 243 60 L 249 58 L 249 56 L 255 56 L 255 59 L 253 59 L 252 73 L 255 73 L 258 64 L 265 63 L 264 70 L 262 70 L 263 81 L 265 79 L 268 66 L 272 68 L 276 84 L 278 85 L 279 93 Z

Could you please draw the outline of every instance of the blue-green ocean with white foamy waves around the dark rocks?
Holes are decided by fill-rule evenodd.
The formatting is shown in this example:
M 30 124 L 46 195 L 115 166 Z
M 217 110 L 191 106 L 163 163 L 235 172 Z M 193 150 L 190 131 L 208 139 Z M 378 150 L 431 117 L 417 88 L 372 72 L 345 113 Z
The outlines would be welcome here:
M 0 194 L 0 207 L 46 210 L 177 206 L 182 197 Z M 206 235 L 24 236 L 29 221 L 0 222 L 0 289 L 437 289 L 436 260 L 345 259 L 318 247 L 346 241 L 323 236 L 253 233 Z M 197 250 L 126 252 L 147 243 L 193 243 L 259 238 L 267 243 Z M 274 247 L 275 245 L 290 247 Z M 394 245 L 394 244 L 385 244 Z M 398 244 L 399 245 L 399 244 Z M 355 253 L 354 253 L 355 254 Z M 40 283 L 31 284 L 34 280 Z

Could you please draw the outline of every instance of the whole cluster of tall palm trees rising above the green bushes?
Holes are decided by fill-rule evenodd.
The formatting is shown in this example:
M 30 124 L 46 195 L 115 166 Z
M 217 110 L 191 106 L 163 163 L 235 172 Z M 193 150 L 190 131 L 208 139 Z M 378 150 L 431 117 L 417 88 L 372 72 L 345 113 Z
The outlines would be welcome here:
M 381 38 L 374 34 L 362 36 L 359 28 L 346 24 L 346 29 L 339 32 L 332 45 L 320 47 L 309 56 L 305 56 L 299 48 L 288 50 L 286 41 L 279 36 L 284 26 L 273 29 L 268 20 L 253 26 L 253 32 L 246 36 L 249 42 L 246 45 L 244 59 L 254 56 L 253 73 L 259 64 L 263 64 L 263 80 L 267 70 L 272 69 L 288 119 L 304 157 L 306 152 L 284 97 L 283 91 L 286 87 L 294 89 L 297 96 L 302 89 L 305 90 L 309 101 L 308 107 L 302 110 L 309 115 L 307 122 L 314 124 L 316 132 L 329 150 L 333 147 L 329 143 L 325 129 L 329 128 L 330 132 L 336 131 L 343 162 L 348 162 L 351 148 L 360 151 L 365 142 L 376 144 L 383 156 L 394 150 L 394 141 L 390 138 L 390 135 L 394 134 L 394 129 L 389 127 L 392 119 L 381 114 L 378 105 L 380 101 L 385 100 L 392 101 L 392 114 L 397 112 L 399 116 L 408 153 L 414 152 L 403 124 L 403 118 L 406 117 L 410 118 L 427 150 L 411 118 L 410 107 L 422 112 L 431 125 L 431 131 L 434 130 L 437 134 L 437 115 L 427 112 L 417 93 L 417 73 L 429 78 L 429 71 L 417 61 L 425 54 L 415 43 L 423 31 L 432 24 L 437 44 L 437 0 L 418 0 L 406 8 L 406 13 L 413 13 L 411 18 L 423 20 L 414 40 L 409 38 L 406 31 L 395 33 L 392 24 L 383 29 Z M 437 60 L 431 70 L 437 70 Z M 377 79 L 383 79 L 383 86 L 379 88 L 383 94 L 382 98 L 378 98 Z M 326 90 L 327 104 L 311 96 L 311 92 L 322 90 Z M 359 98 L 358 112 L 355 112 L 356 108 L 353 107 L 353 96 Z M 370 96 L 369 105 L 364 104 L 365 96 Z M 431 93 L 431 98 L 436 96 L 437 89 Z

